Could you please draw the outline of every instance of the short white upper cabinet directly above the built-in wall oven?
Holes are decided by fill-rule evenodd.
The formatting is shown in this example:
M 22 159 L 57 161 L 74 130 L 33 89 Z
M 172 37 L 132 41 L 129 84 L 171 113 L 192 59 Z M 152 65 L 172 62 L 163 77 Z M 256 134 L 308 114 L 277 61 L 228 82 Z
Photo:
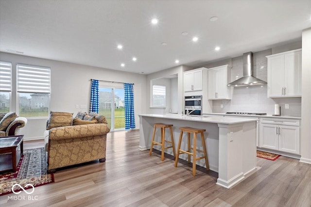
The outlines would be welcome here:
M 184 73 L 184 91 L 202 91 L 202 71 L 195 69 Z

